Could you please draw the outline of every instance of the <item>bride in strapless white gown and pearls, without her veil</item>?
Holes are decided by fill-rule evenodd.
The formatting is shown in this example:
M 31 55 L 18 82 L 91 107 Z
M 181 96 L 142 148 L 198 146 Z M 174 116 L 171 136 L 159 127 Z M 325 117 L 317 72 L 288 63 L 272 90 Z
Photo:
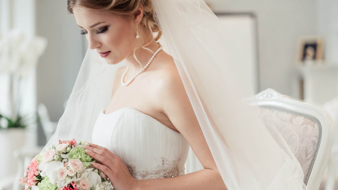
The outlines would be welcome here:
M 113 13 L 100 11 L 109 4 L 94 2 L 69 0 L 68 9 L 74 13 L 90 49 L 95 49 L 107 64 L 124 61 L 127 65 L 117 69 L 111 100 L 94 127 L 92 141 L 97 145 L 87 150 L 103 163 L 94 166 L 105 172 L 115 189 L 208 189 L 209 184 L 213 189 L 225 189 L 175 62 L 150 32 L 159 31 L 151 17 L 150 1 L 115 1 L 116 5 L 111 1 Z M 121 5 L 127 9 L 116 10 Z M 140 37 L 144 48 L 134 51 Z M 183 175 L 187 143 L 205 169 L 174 180 L 134 178 Z M 162 166 L 162 158 L 158 164 L 154 159 L 158 157 L 164 157 L 168 166 Z

